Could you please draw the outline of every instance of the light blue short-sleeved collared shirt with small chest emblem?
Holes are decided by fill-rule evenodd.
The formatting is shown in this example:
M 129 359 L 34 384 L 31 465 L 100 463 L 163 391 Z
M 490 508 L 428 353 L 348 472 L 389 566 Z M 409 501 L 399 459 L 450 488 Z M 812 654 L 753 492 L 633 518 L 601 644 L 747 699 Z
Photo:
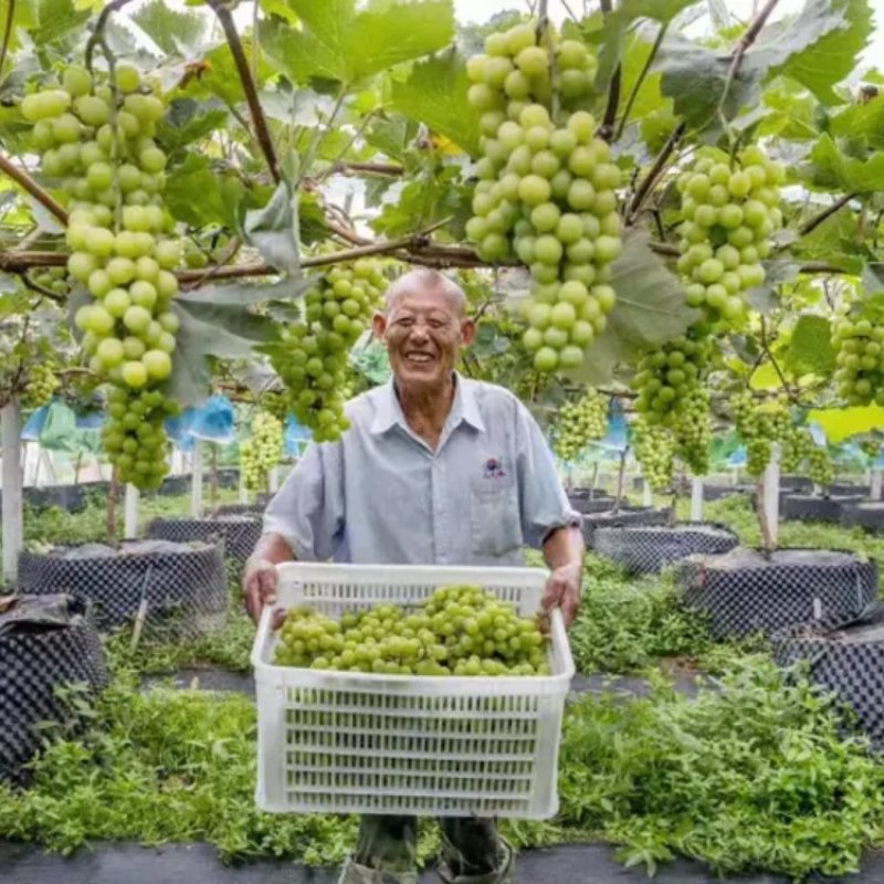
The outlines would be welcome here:
M 435 451 L 409 428 L 392 381 L 347 415 L 349 430 L 311 444 L 264 515 L 298 559 L 519 565 L 525 544 L 580 524 L 539 427 L 503 387 L 456 376 Z

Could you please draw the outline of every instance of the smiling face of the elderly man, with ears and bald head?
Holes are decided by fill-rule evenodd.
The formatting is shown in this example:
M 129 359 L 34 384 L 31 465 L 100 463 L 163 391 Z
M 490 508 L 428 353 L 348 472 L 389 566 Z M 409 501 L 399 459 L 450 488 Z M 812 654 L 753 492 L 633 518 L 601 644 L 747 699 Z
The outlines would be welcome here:
M 373 330 L 387 344 L 400 389 L 441 390 L 461 347 L 472 343 L 474 326 L 455 293 L 415 274 L 413 284 L 393 291 L 387 313 L 375 316 Z

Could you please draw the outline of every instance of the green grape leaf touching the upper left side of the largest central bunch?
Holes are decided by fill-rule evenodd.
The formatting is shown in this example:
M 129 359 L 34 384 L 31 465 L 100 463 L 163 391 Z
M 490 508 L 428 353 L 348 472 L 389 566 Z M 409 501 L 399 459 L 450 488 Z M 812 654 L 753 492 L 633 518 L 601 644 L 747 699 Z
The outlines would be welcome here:
M 393 109 L 425 123 L 473 157 L 478 156 L 478 113 L 466 101 L 466 65 L 454 50 L 415 64 L 404 82 L 393 81 Z

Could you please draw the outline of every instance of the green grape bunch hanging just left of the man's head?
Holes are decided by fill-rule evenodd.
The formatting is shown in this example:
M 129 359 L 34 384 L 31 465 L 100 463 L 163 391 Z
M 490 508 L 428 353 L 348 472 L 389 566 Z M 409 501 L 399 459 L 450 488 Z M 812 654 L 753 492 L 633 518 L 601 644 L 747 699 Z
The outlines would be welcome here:
M 349 427 L 344 413 L 350 347 L 368 327 L 386 287 L 382 264 L 338 264 L 304 296 L 304 319 L 283 333 L 271 352 L 291 410 L 317 442 L 334 442 Z

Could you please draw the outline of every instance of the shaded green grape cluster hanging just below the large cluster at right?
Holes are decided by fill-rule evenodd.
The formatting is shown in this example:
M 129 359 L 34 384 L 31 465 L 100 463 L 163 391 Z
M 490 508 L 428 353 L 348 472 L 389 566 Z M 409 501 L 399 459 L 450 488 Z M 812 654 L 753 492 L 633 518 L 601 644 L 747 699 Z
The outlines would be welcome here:
M 632 382 L 635 410 L 649 427 L 672 432 L 675 453 L 695 475 L 708 472 L 712 415 L 703 372 L 712 352 L 707 339 L 675 338 L 641 359 Z

